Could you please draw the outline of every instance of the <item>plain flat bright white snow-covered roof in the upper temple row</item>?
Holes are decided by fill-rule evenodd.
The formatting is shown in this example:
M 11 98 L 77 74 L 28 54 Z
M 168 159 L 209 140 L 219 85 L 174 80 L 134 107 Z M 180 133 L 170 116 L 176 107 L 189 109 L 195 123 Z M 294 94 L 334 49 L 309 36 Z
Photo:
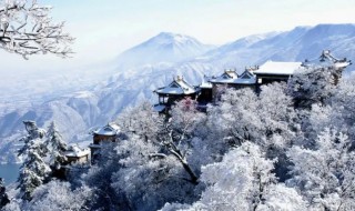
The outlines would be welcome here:
M 266 61 L 254 74 L 293 74 L 301 68 L 302 62 Z

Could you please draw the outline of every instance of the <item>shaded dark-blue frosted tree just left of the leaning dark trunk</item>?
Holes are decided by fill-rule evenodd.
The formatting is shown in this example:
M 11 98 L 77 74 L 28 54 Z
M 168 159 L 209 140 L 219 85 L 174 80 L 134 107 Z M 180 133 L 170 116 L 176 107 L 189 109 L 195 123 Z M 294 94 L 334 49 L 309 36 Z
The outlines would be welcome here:
M 115 190 L 112 201 L 118 203 L 119 210 L 156 210 L 166 201 L 192 202 L 195 199 L 195 185 L 185 181 L 186 172 L 181 163 L 161 151 L 156 143 L 131 137 L 118 143 L 115 150 L 112 164 L 118 170 L 111 177 L 111 187 Z M 99 169 L 98 172 L 105 171 Z

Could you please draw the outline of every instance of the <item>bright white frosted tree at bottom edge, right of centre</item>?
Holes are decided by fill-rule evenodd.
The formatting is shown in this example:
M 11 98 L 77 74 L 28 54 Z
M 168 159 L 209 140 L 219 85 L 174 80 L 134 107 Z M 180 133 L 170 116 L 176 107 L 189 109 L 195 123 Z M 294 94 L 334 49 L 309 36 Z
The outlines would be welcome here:
M 305 210 L 294 189 L 276 183 L 273 163 L 256 144 L 244 142 L 222 162 L 202 168 L 207 188 L 197 202 L 165 204 L 162 210 Z

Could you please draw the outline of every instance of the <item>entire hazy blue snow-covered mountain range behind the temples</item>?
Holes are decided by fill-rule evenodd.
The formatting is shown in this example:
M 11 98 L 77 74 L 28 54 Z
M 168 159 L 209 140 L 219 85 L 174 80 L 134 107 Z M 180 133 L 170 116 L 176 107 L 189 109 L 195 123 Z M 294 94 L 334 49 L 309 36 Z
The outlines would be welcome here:
M 55 120 L 67 140 L 88 140 L 90 128 L 114 120 L 125 107 L 144 99 L 155 102 L 152 91 L 171 82 L 174 76 L 184 76 L 192 84 L 199 84 L 204 74 L 219 74 L 224 68 L 237 68 L 242 72 L 244 67 L 266 60 L 303 61 L 318 57 L 323 49 L 354 60 L 355 24 L 297 27 L 242 38 L 219 48 L 187 36 L 160 33 L 118 57 L 110 78 L 93 84 L 89 91 L 2 110 L 0 138 L 23 131 L 21 121 L 33 119 L 40 127 Z

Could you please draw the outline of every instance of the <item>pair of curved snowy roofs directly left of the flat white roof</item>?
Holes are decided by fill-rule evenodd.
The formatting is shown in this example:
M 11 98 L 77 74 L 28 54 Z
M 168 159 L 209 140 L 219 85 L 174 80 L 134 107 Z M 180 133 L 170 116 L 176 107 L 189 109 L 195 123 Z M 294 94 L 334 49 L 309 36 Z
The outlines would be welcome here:
M 221 77 L 210 80 L 212 83 L 229 83 L 229 84 L 255 84 L 256 78 L 254 73 L 250 70 L 245 70 L 241 76 L 236 73 L 231 78 L 226 78 L 225 73 Z

